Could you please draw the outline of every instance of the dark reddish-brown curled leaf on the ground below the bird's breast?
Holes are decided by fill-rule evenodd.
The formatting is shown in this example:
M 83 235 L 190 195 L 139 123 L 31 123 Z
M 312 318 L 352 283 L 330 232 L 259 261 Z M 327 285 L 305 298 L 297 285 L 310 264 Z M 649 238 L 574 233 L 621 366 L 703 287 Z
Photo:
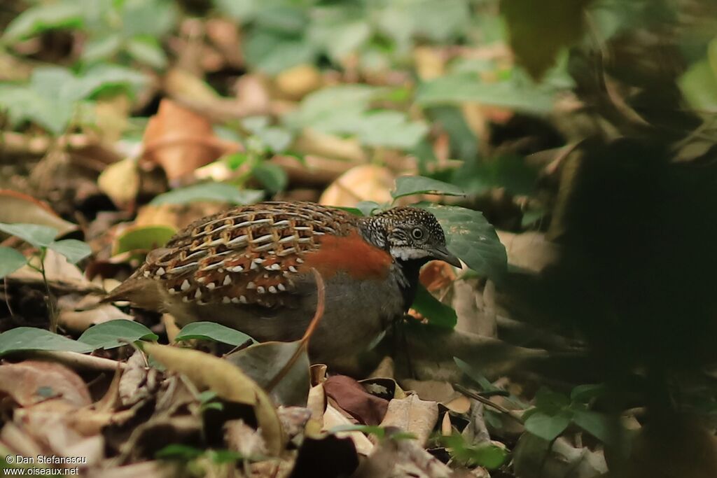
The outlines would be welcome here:
M 389 402 L 368 393 L 361 383 L 351 377 L 336 375 L 323 383 L 326 396 L 361 424 L 378 425 L 386 415 Z

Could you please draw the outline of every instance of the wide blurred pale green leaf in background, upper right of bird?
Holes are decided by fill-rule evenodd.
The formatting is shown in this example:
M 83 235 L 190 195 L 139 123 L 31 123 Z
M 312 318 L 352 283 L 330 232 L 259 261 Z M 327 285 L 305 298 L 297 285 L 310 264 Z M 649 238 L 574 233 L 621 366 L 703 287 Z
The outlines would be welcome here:
M 477 75 L 464 73 L 423 83 L 416 102 L 424 106 L 479 102 L 526 113 L 548 113 L 553 109 L 553 97 L 554 92 L 548 87 L 538 87 L 527 80 L 485 83 Z

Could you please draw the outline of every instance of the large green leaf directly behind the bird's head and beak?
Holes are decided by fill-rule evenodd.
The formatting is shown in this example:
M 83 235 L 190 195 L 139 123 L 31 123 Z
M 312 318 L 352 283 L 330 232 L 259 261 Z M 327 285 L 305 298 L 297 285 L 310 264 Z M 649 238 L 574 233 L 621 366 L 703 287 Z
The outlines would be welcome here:
M 458 206 L 419 205 L 436 216 L 446 233 L 448 250 L 478 274 L 500 280 L 508 255 L 495 228 L 480 211 Z

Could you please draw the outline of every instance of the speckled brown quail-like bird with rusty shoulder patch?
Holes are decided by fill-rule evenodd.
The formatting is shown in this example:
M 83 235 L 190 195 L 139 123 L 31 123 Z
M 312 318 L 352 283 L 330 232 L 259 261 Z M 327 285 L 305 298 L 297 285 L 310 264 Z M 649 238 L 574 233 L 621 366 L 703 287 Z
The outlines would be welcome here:
M 462 267 L 436 217 L 410 206 L 374 216 L 310 202 L 237 206 L 194 221 L 154 249 L 103 302 L 212 321 L 260 342 L 300 339 L 325 284 L 313 362 L 360 353 L 412 305 L 419 269 Z

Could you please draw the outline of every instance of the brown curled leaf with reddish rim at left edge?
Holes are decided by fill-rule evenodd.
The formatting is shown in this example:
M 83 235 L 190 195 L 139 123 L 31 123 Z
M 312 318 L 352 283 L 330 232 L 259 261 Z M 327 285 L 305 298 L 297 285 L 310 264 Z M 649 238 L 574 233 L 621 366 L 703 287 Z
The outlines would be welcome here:
M 0 222 L 6 224 L 22 222 L 54 227 L 57 229 L 58 236 L 77 230 L 77 224 L 57 216 L 43 201 L 9 189 L 0 189 Z

